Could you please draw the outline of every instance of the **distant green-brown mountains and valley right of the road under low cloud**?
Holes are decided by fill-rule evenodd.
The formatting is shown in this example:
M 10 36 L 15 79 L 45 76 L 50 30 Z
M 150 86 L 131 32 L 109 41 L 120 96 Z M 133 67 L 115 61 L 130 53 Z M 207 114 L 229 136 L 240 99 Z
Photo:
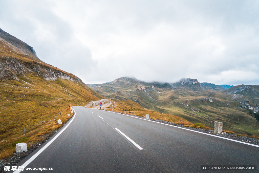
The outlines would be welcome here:
M 180 116 L 192 123 L 201 122 L 213 127 L 214 121 L 222 121 L 226 130 L 259 135 L 258 105 L 256 98 L 250 97 L 251 94 L 256 96 L 255 86 L 242 90 L 247 94 L 238 95 L 242 92 L 239 87 L 225 90 L 210 83 L 201 85 L 197 79 L 183 78 L 166 83 L 123 77 L 90 87 L 105 98 L 132 100 L 144 108 Z

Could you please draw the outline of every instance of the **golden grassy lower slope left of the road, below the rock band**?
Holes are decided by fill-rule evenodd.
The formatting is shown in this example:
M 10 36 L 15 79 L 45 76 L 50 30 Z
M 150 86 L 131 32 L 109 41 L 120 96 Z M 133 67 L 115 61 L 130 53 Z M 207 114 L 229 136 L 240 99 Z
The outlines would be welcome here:
M 82 84 L 46 81 L 31 74 L 0 82 L 0 160 L 15 152 L 19 142 L 29 149 L 69 120 L 68 105 L 85 105 L 102 96 Z M 98 97 L 96 97 L 96 96 Z M 63 124 L 58 124 L 61 119 Z M 24 129 L 26 136 L 24 135 Z

